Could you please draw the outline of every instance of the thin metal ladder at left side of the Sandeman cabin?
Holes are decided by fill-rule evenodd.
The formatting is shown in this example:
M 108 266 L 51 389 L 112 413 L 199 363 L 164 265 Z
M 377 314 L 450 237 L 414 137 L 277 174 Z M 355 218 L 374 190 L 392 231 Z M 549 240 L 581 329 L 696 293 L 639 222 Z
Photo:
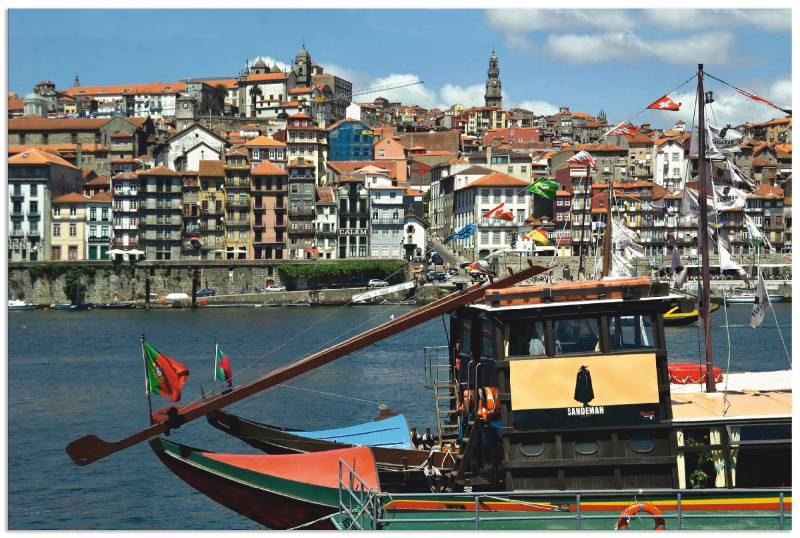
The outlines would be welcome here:
M 458 439 L 458 422 L 452 423 L 451 404 L 457 399 L 458 387 L 450 381 L 450 357 L 447 346 L 423 348 L 425 363 L 425 387 L 433 390 L 436 439 L 443 442 Z

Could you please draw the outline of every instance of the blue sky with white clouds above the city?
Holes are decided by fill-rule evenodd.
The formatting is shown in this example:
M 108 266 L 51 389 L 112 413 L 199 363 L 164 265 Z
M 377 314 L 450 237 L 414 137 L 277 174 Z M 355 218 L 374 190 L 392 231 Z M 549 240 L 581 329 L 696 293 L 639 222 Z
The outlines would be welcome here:
M 791 12 L 689 9 L 25 10 L 8 17 L 9 91 L 233 77 L 248 59 L 291 64 L 302 43 L 354 90 L 423 81 L 379 95 L 426 108 L 482 105 L 488 59 L 500 60 L 503 107 L 560 106 L 628 120 L 707 72 L 791 106 Z M 634 121 L 691 124 L 695 82 L 670 93 L 679 112 Z M 707 79 L 712 120 L 736 125 L 781 113 Z

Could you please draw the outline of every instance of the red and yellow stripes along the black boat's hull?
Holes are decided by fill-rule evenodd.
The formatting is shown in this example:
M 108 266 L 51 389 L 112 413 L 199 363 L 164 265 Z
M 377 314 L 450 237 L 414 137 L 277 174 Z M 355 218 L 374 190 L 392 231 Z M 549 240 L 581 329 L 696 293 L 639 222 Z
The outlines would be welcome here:
M 639 499 L 642 500 L 642 499 Z M 676 511 L 678 501 L 674 496 L 655 495 L 646 499 L 663 511 Z M 624 510 L 635 502 L 631 499 L 591 500 L 581 501 L 582 512 L 605 512 Z M 792 498 L 784 496 L 784 510 L 791 511 Z M 461 501 L 458 499 L 396 499 L 384 505 L 387 511 L 475 511 L 474 501 Z M 780 510 L 780 498 L 774 493 L 758 496 L 752 493 L 742 494 L 709 494 L 704 498 L 689 498 L 681 500 L 683 511 L 717 511 L 717 510 Z M 576 505 L 574 497 L 530 497 L 509 501 L 479 501 L 478 510 L 482 512 L 574 512 Z

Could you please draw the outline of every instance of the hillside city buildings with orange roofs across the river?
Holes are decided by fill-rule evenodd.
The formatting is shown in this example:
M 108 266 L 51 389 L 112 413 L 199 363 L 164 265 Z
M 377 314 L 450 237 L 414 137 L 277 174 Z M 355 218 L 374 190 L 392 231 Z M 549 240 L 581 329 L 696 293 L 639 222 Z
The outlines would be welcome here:
M 259 58 L 230 77 L 76 76 L 9 94 L 9 260 L 408 259 L 466 224 L 476 232 L 449 246 L 467 259 L 568 256 L 593 248 L 609 203 L 648 255 L 697 252 L 696 224 L 680 213 L 697 187 L 683 122 L 607 135 L 603 111 L 503 109 L 494 52 L 483 106 L 425 109 L 380 93 L 354 92 L 302 46 L 285 71 Z M 717 223 L 735 254 L 753 248 L 745 215 L 791 251 L 791 126 L 734 126 L 733 161 L 757 184 Z M 596 167 L 569 164 L 579 151 Z M 526 190 L 542 178 L 557 183 L 553 200 Z M 500 203 L 512 218 L 483 216 Z M 533 228 L 550 244 L 525 240 Z

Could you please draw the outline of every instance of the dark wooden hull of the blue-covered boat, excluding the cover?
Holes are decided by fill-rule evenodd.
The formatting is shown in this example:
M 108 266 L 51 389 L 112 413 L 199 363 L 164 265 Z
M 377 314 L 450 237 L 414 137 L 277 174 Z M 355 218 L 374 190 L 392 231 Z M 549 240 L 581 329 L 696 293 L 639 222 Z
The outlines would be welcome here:
M 238 437 L 250 446 L 267 454 L 301 454 L 351 447 L 294 435 L 291 431 L 237 417 L 225 411 L 207 415 L 209 424 L 223 432 Z M 371 447 L 381 484 L 386 491 L 420 491 L 429 489 L 423 466 L 429 458 L 441 472 L 455 466 L 455 456 L 447 452 L 407 450 L 401 448 Z

